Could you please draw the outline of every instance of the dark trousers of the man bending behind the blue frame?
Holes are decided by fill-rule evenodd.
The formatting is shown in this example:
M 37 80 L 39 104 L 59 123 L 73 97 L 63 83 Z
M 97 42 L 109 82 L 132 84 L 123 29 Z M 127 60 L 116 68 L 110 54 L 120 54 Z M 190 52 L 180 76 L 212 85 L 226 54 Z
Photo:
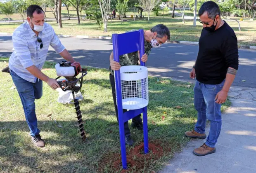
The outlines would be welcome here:
M 112 86 L 112 95 L 113 95 L 113 100 L 114 100 L 114 105 L 115 105 L 115 110 L 116 110 L 116 118 L 117 118 L 117 122 L 118 122 L 118 111 L 117 111 L 117 105 L 116 105 L 116 86 L 115 86 L 115 77 L 114 77 L 114 75 L 109 74 L 109 80 L 110 80 L 110 84 Z M 123 112 L 127 112 L 127 110 L 123 109 Z M 133 122 L 142 122 L 141 114 L 134 117 L 132 119 L 132 121 Z M 128 121 L 124 123 L 124 134 L 125 134 L 125 136 L 130 135 L 130 129 L 128 127 Z

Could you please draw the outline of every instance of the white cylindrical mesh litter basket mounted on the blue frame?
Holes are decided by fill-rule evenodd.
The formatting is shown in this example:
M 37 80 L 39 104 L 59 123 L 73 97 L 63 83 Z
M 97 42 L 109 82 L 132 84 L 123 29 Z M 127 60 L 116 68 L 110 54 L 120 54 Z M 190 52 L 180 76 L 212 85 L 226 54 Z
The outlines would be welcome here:
M 136 110 L 149 103 L 147 68 L 127 65 L 120 68 L 123 109 Z

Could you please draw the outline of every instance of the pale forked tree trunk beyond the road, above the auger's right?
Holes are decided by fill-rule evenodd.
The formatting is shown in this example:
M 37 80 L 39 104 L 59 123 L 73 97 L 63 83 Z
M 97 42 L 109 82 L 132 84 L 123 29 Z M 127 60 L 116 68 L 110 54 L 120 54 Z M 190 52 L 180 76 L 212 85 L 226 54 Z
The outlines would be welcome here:
M 100 11 L 103 19 L 104 24 L 104 33 L 107 32 L 107 23 L 109 19 L 109 12 L 110 12 L 110 3 L 111 0 L 98 0 L 100 5 Z

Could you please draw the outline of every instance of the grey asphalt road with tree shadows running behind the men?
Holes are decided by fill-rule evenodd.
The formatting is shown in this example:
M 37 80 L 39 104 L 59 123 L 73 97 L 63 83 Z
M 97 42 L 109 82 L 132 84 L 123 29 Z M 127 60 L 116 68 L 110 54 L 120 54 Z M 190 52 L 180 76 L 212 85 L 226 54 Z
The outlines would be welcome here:
M 63 37 L 60 40 L 82 65 L 109 67 L 111 40 L 71 37 Z M 197 58 L 197 52 L 198 45 L 188 44 L 166 43 L 160 48 L 153 48 L 146 63 L 149 75 L 191 80 L 189 73 Z M 0 35 L 0 56 L 8 56 L 11 53 L 12 37 Z M 47 61 L 59 62 L 62 60 L 63 58 L 50 47 Z M 256 74 L 255 66 L 256 50 L 239 49 L 239 70 L 233 85 L 256 88 L 256 79 L 253 77 Z

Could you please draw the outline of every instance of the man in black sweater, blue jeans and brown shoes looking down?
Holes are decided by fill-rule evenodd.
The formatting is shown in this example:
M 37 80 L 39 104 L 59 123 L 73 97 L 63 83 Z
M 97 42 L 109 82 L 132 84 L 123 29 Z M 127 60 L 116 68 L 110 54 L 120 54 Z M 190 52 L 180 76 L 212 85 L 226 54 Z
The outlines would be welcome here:
M 221 130 L 220 107 L 225 103 L 228 91 L 238 70 L 237 37 L 234 30 L 220 18 L 220 9 L 208 1 L 199 9 L 203 30 L 199 39 L 199 52 L 190 78 L 196 77 L 194 107 L 198 112 L 194 130 L 185 136 L 205 139 L 206 119 L 211 128 L 206 143 L 194 149 L 197 156 L 215 152 Z

